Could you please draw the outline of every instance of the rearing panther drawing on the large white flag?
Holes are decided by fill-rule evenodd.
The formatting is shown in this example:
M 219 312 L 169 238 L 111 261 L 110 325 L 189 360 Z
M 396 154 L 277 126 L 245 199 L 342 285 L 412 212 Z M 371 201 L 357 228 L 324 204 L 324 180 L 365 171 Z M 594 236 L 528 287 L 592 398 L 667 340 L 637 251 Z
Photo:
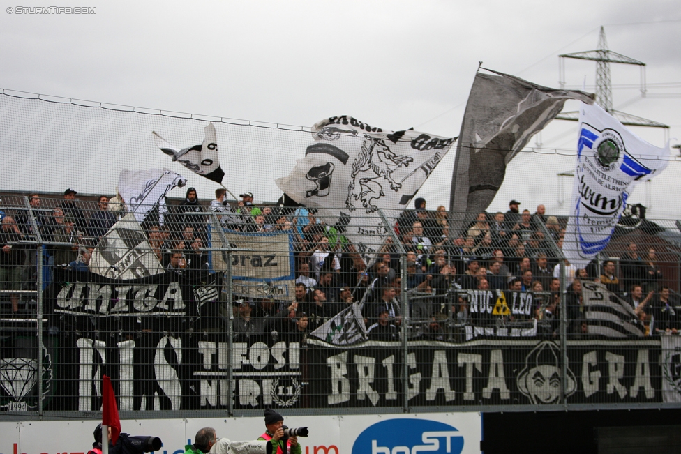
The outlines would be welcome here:
M 361 150 L 352 162 L 345 200 L 347 209 L 354 211 L 354 202 L 360 200 L 367 213 L 376 211 L 378 206 L 374 202 L 385 195 L 381 183 L 387 181 L 390 188 L 397 192 L 402 188 L 402 183 L 395 181 L 392 173 L 399 167 L 409 167 L 410 162 L 414 162 L 414 159 L 393 153 L 383 139 L 365 135 Z

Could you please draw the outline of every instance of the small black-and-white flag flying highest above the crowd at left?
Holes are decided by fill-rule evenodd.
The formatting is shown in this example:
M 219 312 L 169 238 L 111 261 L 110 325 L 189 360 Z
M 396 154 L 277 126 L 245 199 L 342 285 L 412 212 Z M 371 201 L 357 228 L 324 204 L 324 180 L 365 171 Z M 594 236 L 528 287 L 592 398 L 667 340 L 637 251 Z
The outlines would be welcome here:
M 213 123 L 208 123 L 204 128 L 205 138 L 200 145 L 188 146 L 187 148 L 177 151 L 177 147 L 172 146 L 163 137 L 160 137 L 156 131 L 151 132 L 154 135 L 154 141 L 158 148 L 163 153 L 172 156 L 172 160 L 180 162 L 181 165 L 187 167 L 192 172 L 205 176 L 209 180 L 216 183 L 223 182 L 222 167 L 218 160 L 218 138 L 215 132 Z

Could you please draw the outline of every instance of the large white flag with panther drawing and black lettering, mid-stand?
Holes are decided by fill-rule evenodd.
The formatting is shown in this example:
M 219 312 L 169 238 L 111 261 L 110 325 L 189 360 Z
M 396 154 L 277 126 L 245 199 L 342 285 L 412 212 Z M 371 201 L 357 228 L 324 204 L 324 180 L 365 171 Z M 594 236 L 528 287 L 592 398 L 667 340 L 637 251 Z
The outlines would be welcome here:
M 378 209 L 394 222 L 456 139 L 384 131 L 345 115 L 315 124 L 312 135 L 305 157 L 277 186 L 345 229 L 365 259 L 388 234 Z

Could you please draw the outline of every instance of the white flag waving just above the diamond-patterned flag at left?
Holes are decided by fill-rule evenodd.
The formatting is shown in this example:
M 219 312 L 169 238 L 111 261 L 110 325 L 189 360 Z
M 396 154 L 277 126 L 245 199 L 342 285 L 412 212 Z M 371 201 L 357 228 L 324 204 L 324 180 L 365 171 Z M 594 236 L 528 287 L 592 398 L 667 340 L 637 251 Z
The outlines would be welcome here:
M 159 222 L 167 213 L 165 195 L 175 186 L 180 188 L 187 180 L 180 174 L 163 169 L 133 171 L 124 169 L 118 177 L 118 190 L 126 203 L 128 213 L 133 213 L 137 222 L 143 222 L 149 211 L 158 207 Z

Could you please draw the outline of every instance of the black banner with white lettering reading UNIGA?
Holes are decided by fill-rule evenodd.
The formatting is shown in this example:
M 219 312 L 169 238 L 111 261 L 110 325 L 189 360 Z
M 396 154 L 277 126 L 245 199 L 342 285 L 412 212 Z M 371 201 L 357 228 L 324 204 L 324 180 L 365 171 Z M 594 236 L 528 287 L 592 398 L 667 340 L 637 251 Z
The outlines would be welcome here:
M 204 303 L 218 300 L 221 278 L 215 273 L 197 283 L 170 271 L 121 280 L 66 271 L 45 289 L 45 309 L 47 315 L 196 315 Z

